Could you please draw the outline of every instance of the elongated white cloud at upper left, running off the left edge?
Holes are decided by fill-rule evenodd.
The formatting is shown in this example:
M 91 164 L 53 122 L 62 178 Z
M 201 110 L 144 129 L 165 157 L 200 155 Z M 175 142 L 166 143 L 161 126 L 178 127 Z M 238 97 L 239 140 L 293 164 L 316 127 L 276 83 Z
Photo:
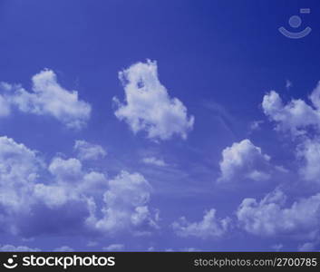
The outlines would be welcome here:
M 81 129 L 89 120 L 90 104 L 79 100 L 78 92 L 64 89 L 52 70 L 35 74 L 32 83 L 32 92 L 18 84 L 0 84 L 4 92 L 0 97 L 0 105 L 3 105 L 0 116 L 7 115 L 12 105 L 21 112 L 53 116 L 73 129 Z

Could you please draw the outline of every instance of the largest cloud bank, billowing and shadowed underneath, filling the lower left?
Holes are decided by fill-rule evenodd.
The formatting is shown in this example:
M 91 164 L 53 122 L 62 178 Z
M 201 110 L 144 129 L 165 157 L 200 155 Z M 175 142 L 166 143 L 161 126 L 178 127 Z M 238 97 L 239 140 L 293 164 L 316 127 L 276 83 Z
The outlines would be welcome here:
M 148 206 L 151 186 L 141 174 L 121 172 L 109 180 L 75 158 L 55 157 L 49 165 L 39 158 L 0 137 L 0 231 L 27 238 L 158 228 L 158 212 Z

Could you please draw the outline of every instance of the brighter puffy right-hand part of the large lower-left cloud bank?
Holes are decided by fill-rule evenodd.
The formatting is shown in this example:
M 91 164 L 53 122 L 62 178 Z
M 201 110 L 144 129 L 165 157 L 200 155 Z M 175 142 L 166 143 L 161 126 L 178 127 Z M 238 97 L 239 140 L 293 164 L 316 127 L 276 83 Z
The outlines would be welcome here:
M 49 208 L 80 201 L 82 209 L 89 213 L 83 219 L 86 226 L 102 233 L 129 230 L 138 234 L 140 229 L 159 228 L 157 211 L 148 207 L 150 183 L 141 174 L 122 171 L 113 180 L 107 180 L 101 172 L 83 170 L 80 160 L 74 158 L 54 158 L 48 169 L 54 182 L 37 184 L 34 195 Z M 102 207 L 98 202 L 102 202 Z

